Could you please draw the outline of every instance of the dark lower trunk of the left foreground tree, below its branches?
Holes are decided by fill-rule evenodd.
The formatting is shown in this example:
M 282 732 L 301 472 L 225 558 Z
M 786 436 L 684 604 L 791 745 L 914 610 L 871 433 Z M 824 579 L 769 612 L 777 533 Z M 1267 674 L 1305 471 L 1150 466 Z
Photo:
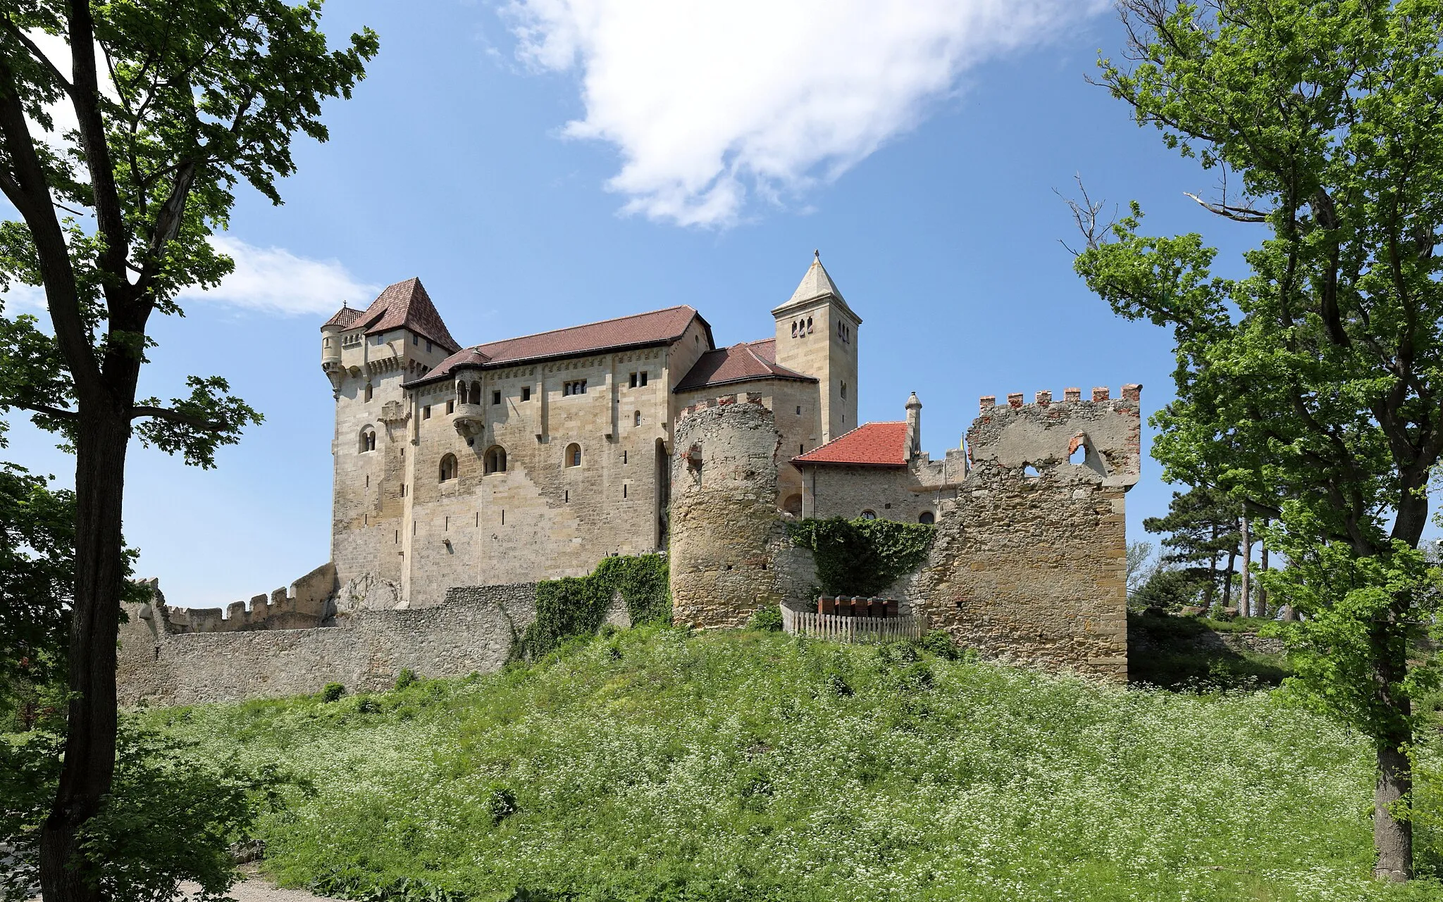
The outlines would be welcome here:
M 130 419 L 108 403 L 89 407 L 84 410 L 82 404 L 75 436 L 71 700 L 65 766 L 55 804 L 40 828 L 45 902 L 100 902 L 92 875 L 74 867 L 72 859 L 78 851 L 76 834 L 100 811 L 115 772 L 115 635 L 126 576 L 120 527 Z

